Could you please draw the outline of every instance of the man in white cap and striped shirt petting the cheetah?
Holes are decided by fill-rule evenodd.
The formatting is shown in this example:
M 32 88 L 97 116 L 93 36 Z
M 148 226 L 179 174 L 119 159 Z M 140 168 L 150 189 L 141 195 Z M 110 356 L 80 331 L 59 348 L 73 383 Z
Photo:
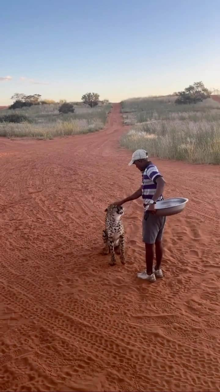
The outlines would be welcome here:
M 132 155 L 129 166 L 135 165 L 142 172 L 142 186 L 131 196 L 116 202 L 122 205 L 127 201 L 138 199 L 142 196 L 144 203 L 144 216 L 142 220 L 142 240 L 145 243 L 146 270 L 138 272 L 137 277 L 155 282 L 156 277 L 162 278 L 161 261 L 163 255 L 162 236 L 166 217 L 155 215 L 157 201 L 163 200 L 165 181 L 157 167 L 148 160 L 145 150 L 136 150 Z M 156 265 L 153 267 L 154 249 Z

